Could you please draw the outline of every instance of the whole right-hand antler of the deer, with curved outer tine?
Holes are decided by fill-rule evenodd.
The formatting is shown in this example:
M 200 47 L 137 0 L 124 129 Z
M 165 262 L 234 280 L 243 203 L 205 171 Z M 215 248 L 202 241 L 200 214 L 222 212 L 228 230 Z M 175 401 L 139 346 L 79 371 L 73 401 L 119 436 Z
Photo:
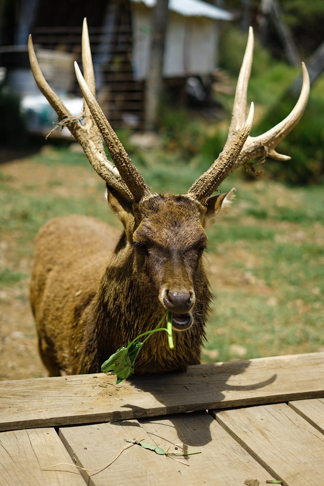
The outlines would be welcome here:
M 276 160 L 290 159 L 289 156 L 278 154 L 275 151 L 275 147 L 286 137 L 286 135 L 288 135 L 293 127 L 296 126 L 304 113 L 309 95 L 309 76 L 307 69 L 305 64 L 302 63 L 303 87 L 299 99 L 291 113 L 283 121 L 267 132 L 258 137 L 251 137 L 249 135 L 251 126 L 250 129 L 248 129 L 247 126 L 251 115 L 251 109 L 245 124 L 244 121 L 247 105 L 247 88 L 253 58 L 253 47 L 253 29 L 250 27 L 246 50 L 239 71 L 239 79 L 235 91 L 232 120 L 224 149 L 213 165 L 196 180 L 188 191 L 188 196 L 193 197 L 199 202 L 204 203 L 207 197 L 218 189 L 227 175 L 239 166 L 249 162 L 249 160 L 262 156 L 269 156 Z M 246 132 L 247 135 L 243 135 L 243 133 L 246 134 Z

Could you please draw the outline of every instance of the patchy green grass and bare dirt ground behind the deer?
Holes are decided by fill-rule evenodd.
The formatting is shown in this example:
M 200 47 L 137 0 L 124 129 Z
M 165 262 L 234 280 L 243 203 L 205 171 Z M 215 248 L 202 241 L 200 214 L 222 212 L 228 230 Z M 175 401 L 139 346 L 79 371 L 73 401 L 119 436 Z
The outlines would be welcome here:
M 152 191 L 184 193 L 203 172 L 172 152 L 136 151 L 132 161 Z M 232 214 L 208 232 L 214 299 L 204 361 L 323 349 L 324 187 L 288 188 L 264 174 L 253 182 L 232 174 L 221 189 L 232 187 Z M 103 194 L 85 156 L 67 149 L 0 166 L 0 379 L 45 374 L 28 305 L 37 230 L 71 213 L 119 226 Z

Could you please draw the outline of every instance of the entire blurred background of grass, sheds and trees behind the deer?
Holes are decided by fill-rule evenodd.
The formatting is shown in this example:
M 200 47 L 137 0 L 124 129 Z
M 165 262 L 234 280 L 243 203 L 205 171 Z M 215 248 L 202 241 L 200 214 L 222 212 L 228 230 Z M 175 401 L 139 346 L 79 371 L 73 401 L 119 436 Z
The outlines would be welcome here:
M 208 232 L 203 361 L 324 350 L 324 2 L 0 0 L 0 380 L 45 376 L 28 303 L 40 226 L 71 213 L 119 225 L 29 67 L 32 34 L 45 78 L 81 116 L 73 62 L 84 17 L 98 102 L 153 191 L 185 193 L 222 151 L 249 25 L 252 135 L 290 112 L 306 62 L 307 108 L 278 146 L 291 160 L 240 168 L 222 184 L 237 198 Z

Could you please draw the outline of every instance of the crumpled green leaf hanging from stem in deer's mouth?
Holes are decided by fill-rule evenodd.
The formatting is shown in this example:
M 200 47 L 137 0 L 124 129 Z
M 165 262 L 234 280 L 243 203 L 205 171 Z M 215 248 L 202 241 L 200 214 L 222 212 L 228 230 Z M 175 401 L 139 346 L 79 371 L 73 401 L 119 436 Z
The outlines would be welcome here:
M 142 346 L 143 343 L 136 341 L 129 347 L 120 347 L 102 364 L 102 372 L 112 371 L 117 376 L 116 384 L 122 382 L 134 373 L 136 356 Z

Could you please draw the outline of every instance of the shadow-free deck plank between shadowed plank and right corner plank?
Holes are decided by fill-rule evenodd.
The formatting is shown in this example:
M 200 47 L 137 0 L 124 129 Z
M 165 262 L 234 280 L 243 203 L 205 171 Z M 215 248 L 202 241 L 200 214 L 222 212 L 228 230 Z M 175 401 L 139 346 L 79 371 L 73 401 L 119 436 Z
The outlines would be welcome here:
M 324 484 L 323 435 L 286 403 L 214 414 L 225 430 L 285 486 Z

